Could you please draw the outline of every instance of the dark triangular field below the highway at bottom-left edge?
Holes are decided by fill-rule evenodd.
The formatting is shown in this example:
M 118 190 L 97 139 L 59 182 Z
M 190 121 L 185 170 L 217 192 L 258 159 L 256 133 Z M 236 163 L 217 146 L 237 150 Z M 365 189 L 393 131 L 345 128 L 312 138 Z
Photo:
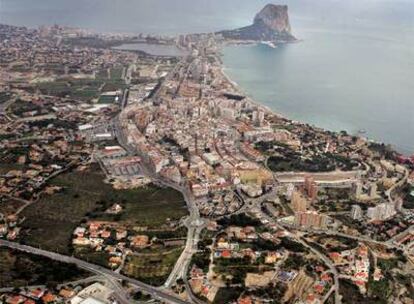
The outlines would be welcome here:
M 0 288 L 54 285 L 88 277 L 74 265 L 0 248 Z

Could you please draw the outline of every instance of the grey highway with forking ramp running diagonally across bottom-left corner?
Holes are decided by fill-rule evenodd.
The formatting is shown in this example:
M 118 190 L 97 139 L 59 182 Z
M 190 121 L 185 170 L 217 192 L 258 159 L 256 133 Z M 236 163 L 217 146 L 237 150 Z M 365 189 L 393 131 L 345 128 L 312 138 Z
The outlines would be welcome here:
M 14 243 L 14 242 L 9 242 L 9 241 L 5 241 L 5 240 L 0 240 L 0 247 L 6 247 L 6 248 L 15 249 L 15 250 L 35 254 L 35 255 L 44 256 L 44 257 L 47 257 L 49 259 L 59 261 L 59 262 L 63 262 L 63 263 L 74 264 L 79 268 L 88 270 L 92 273 L 95 273 L 97 275 L 105 277 L 111 283 L 118 282 L 117 284 L 113 284 L 113 285 L 117 286 L 117 288 L 115 289 L 115 296 L 122 303 L 130 303 L 131 300 L 128 299 L 127 296 L 125 296 L 125 291 L 120 286 L 119 281 L 128 282 L 131 285 L 134 285 L 138 290 L 140 290 L 140 291 L 142 291 L 146 294 L 151 295 L 154 299 L 164 301 L 166 303 L 171 303 L 171 304 L 187 304 L 187 303 L 189 303 L 189 302 L 186 302 L 186 301 L 180 299 L 179 297 L 177 297 L 176 295 L 174 295 L 172 293 L 161 290 L 160 288 L 153 287 L 151 285 L 145 284 L 145 283 L 140 282 L 138 280 L 135 280 L 135 279 L 129 278 L 127 276 L 124 276 L 122 274 L 111 271 L 111 270 L 109 270 L 107 268 L 104 268 L 102 266 L 94 265 L 94 264 L 85 262 L 83 260 L 77 259 L 75 257 L 61 255 L 61 254 L 58 254 L 58 253 L 55 253 L 55 252 L 50 252 L 50 251 L 42 250 L 42 249 L 39 249 L 39 248 L 35 248 L 35 247 L 27 246 L 27 245 L 22 245 L 22 244 L 18 244 L 18 243 Z

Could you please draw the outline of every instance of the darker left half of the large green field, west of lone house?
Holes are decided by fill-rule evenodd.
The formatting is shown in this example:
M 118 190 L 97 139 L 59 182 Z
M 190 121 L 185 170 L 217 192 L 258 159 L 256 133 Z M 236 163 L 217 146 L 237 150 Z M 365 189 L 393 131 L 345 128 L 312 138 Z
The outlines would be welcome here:
M 70 172 L 58 176 L 53 185 L 65 186 L 60 193 L 43 196 L 22 212 L 26 217 L 22 226 L 28 244 L 44 249 L 68 253 L 73 229 L 97 205 L 98 172 Z

